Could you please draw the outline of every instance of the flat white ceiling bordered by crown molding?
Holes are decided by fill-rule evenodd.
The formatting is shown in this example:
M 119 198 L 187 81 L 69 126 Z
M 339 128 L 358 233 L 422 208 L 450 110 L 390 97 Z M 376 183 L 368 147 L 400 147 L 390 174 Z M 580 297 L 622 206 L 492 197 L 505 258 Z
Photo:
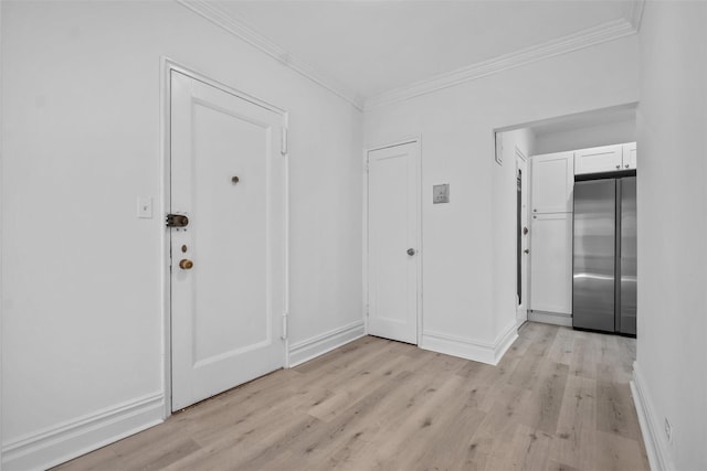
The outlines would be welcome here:
M 363 98 L 630 19 L 632 1 L 213 1 Z

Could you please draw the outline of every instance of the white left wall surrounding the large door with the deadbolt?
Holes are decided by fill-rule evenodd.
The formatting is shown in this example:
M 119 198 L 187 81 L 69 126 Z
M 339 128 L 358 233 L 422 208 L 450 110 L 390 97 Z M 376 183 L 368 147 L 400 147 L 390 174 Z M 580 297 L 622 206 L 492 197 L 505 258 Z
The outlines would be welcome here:
M 161 417 L 162 55 L 289 111 L 291 342 L 362 332 L 359 111 L 176 2 L 4 1 L 8 469 Z M 61 442 L 118 406 L 139 420 Z

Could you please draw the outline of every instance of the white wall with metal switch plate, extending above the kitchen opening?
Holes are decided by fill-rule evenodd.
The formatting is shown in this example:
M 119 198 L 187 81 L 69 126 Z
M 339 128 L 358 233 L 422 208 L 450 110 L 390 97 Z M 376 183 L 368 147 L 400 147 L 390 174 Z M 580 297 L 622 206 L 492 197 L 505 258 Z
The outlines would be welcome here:
M 515 256 L 500 255 L 515 254 L 515 211 L 496 197 L 515 164 L 495 163 L 494 129 L 636 100 L 632 35 L 366 113 L 367 144 L 422 136 L 423 346 L 434 333 L 436 350 L 493 362 L 515 323 Z M 450 204 L 432 205 L 435 183 L 451 184 Z

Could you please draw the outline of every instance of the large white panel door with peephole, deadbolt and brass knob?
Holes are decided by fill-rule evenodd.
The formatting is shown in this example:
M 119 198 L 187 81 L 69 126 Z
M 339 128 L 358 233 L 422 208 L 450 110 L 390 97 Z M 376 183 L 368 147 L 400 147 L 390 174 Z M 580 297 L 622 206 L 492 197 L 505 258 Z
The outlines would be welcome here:
M 284 365 L 285 175 L 279 114 L 171 74 L 177 410 Z

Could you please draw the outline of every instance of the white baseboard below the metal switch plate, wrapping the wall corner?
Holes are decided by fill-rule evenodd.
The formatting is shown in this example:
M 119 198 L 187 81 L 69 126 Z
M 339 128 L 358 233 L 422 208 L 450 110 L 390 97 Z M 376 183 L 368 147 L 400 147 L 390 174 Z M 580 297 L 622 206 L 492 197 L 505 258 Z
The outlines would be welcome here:
M 514 321 L 493 343 L 425 331 L 420 347 L 495 366 L 516 339 L 518 330 Z

